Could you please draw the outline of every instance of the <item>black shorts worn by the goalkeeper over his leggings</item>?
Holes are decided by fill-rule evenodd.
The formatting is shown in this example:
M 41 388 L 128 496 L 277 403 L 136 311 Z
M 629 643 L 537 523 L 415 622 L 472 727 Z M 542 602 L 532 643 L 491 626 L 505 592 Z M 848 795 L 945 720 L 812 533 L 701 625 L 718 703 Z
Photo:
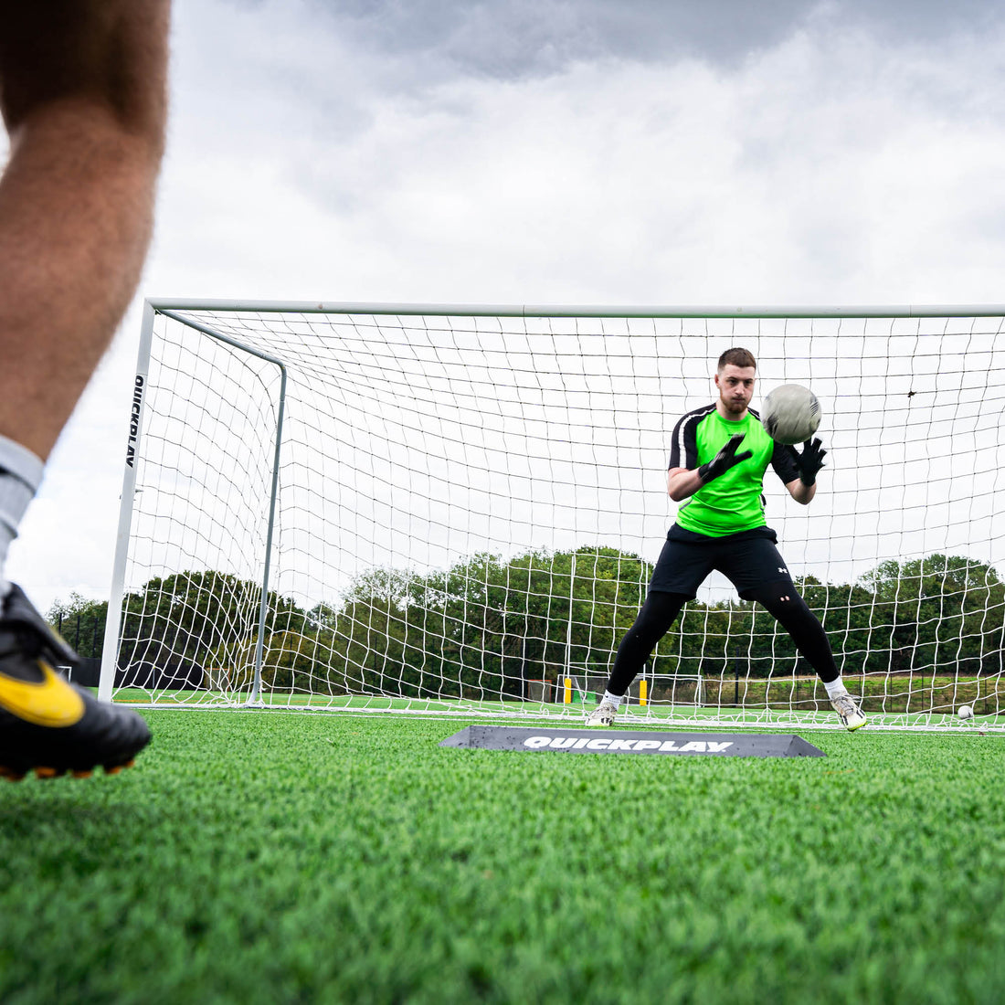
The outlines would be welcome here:
M 697 588 L 715 569 L 729 579 L 745 600 L 767 583 L 786 583 L 796 593 L 785 560 L 775 547 L 777 541 L 778 535 L 770 527 L 709 538 L 674 524 L 659 553 L 649 590 L 680 593 L 693 599 Z

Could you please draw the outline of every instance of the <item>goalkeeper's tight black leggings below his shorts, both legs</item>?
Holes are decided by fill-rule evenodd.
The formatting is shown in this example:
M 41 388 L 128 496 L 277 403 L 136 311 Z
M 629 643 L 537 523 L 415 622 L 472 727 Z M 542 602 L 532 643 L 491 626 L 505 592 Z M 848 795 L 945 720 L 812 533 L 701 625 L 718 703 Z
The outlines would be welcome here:
M 690 599 L 682 593 L 663 593 L 660 590 L 648 594 L 614 657 L 614 666 L 607 681 L 607 689 L 612 694 L 624 694 L 628 690 L 656 643 L 670 630 L 680 608 Z M 768 583 L 747 591 L 744 599 L 757 601 L 778 621 L 824 683 L 840 676 L 823 625 L 790 583 Z

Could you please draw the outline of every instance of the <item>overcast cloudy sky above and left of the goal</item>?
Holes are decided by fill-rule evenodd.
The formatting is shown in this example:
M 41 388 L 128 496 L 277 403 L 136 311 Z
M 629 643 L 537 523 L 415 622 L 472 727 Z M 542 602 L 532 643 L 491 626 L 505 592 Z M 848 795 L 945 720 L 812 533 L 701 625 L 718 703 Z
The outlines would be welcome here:
M 1005 301 L 984 0 L 176 0 L 138 298 L 8 566 L 108 595 L 143 296 Z

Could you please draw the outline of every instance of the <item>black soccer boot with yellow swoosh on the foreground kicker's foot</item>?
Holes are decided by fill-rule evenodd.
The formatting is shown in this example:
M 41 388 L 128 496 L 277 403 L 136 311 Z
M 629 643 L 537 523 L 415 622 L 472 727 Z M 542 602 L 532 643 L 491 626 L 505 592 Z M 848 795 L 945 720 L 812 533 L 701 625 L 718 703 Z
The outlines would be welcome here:
M 96 767 L 115 775 L 150 742 L 141 716 L 96 701 L 54 669 L 78 663 L 11 585 L 0 601 L 0 777 L 85 777 Z

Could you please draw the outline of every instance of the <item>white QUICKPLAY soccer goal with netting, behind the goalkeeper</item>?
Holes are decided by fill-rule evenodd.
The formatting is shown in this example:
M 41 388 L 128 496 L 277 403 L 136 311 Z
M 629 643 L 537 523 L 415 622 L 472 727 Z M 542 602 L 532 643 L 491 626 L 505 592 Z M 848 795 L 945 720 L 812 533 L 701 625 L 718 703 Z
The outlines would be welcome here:
M 100 693 L 581 719 L 673 521 L 673 425 L 733 346 L 755 408 L 821 401 L 817 496 L 769 469 L 766 513 L 871 721 L 1005 726 L 1005 334 L 973 308 L 148 301 Z M 837 725 L 719 574 L 624 721 Z

